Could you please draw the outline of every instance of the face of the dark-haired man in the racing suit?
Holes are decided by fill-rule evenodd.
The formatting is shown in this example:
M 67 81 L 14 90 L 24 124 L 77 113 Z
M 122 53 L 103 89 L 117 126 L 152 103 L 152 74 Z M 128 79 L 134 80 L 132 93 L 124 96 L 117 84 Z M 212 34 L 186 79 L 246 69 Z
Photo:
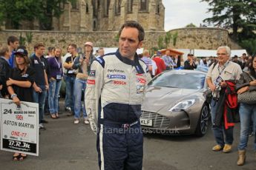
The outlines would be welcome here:
M 142 41 L 139 41 L 139 30 L 134 27 L 124 27 L 119 37 L 120 54 L 131 60 L 137 49 L 142 47 Z

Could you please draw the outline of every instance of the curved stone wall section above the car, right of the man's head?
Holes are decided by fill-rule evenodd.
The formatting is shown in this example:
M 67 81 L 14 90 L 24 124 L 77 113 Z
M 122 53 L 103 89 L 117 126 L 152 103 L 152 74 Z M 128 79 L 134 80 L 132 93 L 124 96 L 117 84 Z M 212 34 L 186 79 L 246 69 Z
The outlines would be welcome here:
M 214 50 L 220 46 L 229 46 L 232 50 L 239 50 L 241 47 L 229 38 L 228 30 L 220 28 L 180 28 L 170 30 L 170 33 L 178 33 L 177 42 L 174 46 L 170 43 L 171 48 L 180 49 L 201 49 Z

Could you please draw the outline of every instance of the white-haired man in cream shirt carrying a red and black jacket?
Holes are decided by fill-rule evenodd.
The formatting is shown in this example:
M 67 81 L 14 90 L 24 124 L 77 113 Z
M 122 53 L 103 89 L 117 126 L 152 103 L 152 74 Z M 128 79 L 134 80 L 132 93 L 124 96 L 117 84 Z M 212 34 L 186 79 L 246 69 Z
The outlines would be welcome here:
M 232 113 L 228 112 L 232 109 L 228 108 L 223 102 L 229 99 L 225 99 L 226 88 L 232 89 L 231 87 L 234 85 L 229 82 L 239 80 L 242 70 L 238 64 L 229 61 L 230 53 L 231 50 L 229 47 L 218 47 L 218 63 L 211 64 L 206 76 L 206 82 L 214 96 L 214 99 L 211 101 L 211 122 L 214 137 L 217 142 L 217 145 L 212 148 L 215 152 L 221 150 L 225 153 L 231 152 L 234 140 L 234 123 L 233 120 L 231 120 Z M 233 107 L 236 108 L 236 106 Z M 223 134 L 225 134 L 226 140 L 224 140 Z

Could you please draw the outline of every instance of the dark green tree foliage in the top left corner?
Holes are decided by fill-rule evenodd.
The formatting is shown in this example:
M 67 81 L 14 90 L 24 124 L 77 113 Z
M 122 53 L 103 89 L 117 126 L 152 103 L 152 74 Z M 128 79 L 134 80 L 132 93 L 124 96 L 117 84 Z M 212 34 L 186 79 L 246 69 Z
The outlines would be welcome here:
M 40 30 L 51 30 L 53 17 L 64 12 L 62 4 L 76 0 L 0 0 L 0 24 L 9 21 L 19 29 L 21 21 L 39 21 Z

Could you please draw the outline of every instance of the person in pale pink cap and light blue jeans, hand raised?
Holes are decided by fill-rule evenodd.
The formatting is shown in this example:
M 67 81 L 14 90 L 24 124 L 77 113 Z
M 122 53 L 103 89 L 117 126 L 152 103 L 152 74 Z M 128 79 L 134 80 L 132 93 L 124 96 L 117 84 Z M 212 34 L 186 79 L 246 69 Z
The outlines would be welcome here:
M 86 42 L 85 43 L 85 54 L 79 55 L 75 58 L 73 62 L 73 69 L 78 69 L 78 73 L 76 74 L 76 80 L 74 85 L 73 97 L 74 97 L 74 124 L 79 123 L 80 111 L 82 108 L 82 113 L 84 117 L 84 123 L 89 124 L 88 116 L 85 111 L 85 104 L 82 105 L 81 98 L 82 94 L 85 93 L 86 81 L 88 78 L 88 74 L 91 70 L 91 63 L 95 60 L 93 56 L 93 43 Z

